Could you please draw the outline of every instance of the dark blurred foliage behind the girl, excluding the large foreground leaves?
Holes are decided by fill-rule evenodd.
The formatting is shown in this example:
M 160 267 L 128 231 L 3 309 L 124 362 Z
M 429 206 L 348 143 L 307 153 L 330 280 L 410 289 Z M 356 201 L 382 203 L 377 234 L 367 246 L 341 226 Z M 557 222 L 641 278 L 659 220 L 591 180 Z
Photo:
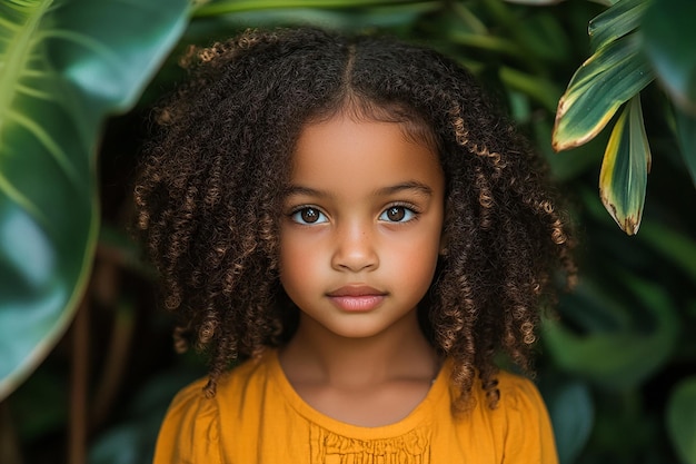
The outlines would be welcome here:
M 597 195 L 610 128 L 578 148 L 551 150 L 558 100 L 591 55 L 587 24 L 607 4 L 528 3 L 538 4 L 220 0 L 187 10 L 153 2 L 178 8 L 186 29 L 135 106 L 103 127 L 100 235 L 82 304 L 46 361 L 0 403 L 0 462 L 149 462 L 169 401 L 205 365 L 196 355 L 173 354 L 171 320 L 158 309 L 151 273 L 128 240 L 129 187 L 148 107 L 183 78 L 176 58 L 186 45 L 247 27 L 309 22 L 389 32 L 456 57 L 547 157 L 581 234 L 580 285 L 547 320 L 537 365 L 561 462 L 696 463 L 696 190 L 679 155 L 688 150 L 675 136 L 673 100 L 659 82 L 642 91 L 653 166 L 640 231 L 628 237 Z M 690 43 L 687 37 L 677 48 Z M 693 147 L 696 130 L 684 134 Z M 21 337 L 8 327 L 0 337 Z

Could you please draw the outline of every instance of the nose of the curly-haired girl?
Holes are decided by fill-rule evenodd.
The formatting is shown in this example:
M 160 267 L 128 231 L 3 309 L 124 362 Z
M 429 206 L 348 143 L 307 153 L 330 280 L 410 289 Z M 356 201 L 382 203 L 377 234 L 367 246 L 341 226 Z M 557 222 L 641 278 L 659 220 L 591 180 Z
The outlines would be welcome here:
M 368 225 L 347 224 L 338 227 L 336 247 L 331 257 L 336 270 L 374 270 L 379 266 L 374 234 Z

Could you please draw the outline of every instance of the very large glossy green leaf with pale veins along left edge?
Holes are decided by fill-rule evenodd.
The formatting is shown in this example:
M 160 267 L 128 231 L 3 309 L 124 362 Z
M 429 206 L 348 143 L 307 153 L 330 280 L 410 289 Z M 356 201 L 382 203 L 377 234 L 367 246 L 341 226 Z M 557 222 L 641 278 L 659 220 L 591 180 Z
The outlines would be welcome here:
M 96 151 L 187 23 L 186 0 L 0 0 L 0 399 L 81 299 L 99 225 Z

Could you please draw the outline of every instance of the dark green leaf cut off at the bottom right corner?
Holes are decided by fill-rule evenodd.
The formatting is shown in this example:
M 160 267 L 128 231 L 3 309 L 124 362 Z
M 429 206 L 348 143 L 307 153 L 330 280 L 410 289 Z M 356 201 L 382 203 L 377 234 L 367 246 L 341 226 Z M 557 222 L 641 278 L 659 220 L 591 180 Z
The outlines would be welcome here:
M 679 382 L 667 402 L 669 438 L 684 464 L 696 464 L 696 376 Z

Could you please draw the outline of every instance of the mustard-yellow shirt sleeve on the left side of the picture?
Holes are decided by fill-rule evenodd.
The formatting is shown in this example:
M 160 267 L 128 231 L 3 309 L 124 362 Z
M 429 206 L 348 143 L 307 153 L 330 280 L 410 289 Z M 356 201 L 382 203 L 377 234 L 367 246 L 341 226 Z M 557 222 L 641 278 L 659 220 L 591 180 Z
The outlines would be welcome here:
M 221 463 L 219 413 L 215 398 L 206 398 L 203 381 L 175 396 L 159 431 L 153 464 Z

